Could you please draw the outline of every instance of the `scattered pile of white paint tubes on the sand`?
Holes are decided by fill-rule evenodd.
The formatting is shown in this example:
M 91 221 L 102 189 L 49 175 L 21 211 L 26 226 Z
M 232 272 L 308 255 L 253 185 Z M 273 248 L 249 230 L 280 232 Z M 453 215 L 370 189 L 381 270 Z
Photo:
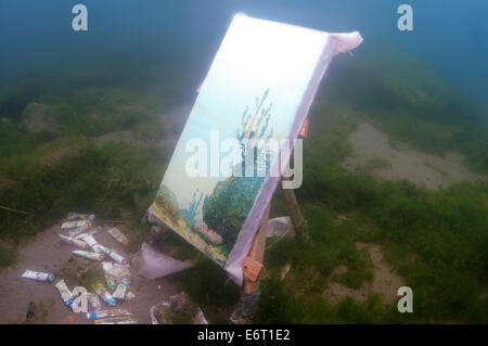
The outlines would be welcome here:
M 102 261 L 103 272 L 106 280 L 106 286 L 113 290 L 111 294 L 102 282 L 93 285 L 95 294 L 88 293 L 88 302 L 91 310 L 87 313 L 88 319 L 95 320 L 97 324 L 132 324 L 137 323 L 129 311 L 126 309 L 103 310 L 99 297 L 110 307 L 117 304 L 117 300 L 130 300 L 134 297 L 132 292 L 128 292 L 129 287 L 129 266 L 127 260 L 115 251 L 107 248 L 97 242 L 93 234 L 100 232 L 100 228 L 91 229 L 91 222 L 94 220 L 93 215 L 69 213 L 67 219 L 61 226 L 62 230 L 68 230 L 68 235 L 59 234 L 61 240 L 67 244 L 79 247 L 79 251 L 73 251 L 74 255 L 81 256 L 91 260 L 102 261 L 110 257 L 112 261 Z M 128 245 L 127 238 L 117 229 L 112 228 L 107 231 L 123 245 Z M 91 248 L 91 252 L 88 251 Z M 26 270 L 23 278 L 36 281 L 53 282 L 54 275 L 44 272 Z M 74 309 L 74 296 L 63 279 L 59 280 L 55 285 L 64 304 Z

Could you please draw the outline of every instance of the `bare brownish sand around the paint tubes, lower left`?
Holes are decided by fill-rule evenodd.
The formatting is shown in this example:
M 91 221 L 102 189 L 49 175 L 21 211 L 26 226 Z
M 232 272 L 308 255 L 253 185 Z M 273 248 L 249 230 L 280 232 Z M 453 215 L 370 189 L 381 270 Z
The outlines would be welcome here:
M 16 264 L 0 272 L 0 323 L 26 322 L 29 305 L 33 306 L 31 302 L 36 305 L 36 313 L 29 322 L 65 323 L 69 319 L 77 324 L 92 323 L 87 320 L 85 313 L 75 313 L 63 304 L 54 284 L 21 278 L 26 269 L 57 272 L 64 267 L 75 248 L 62 243 L 57 233 L 61 233 L 60 223 L 39 232 L 36 238 L 17 249 Z M 126 258 L 131 258 L 132 254 L 108 233 L 98 233 L 95 239 Z M 117 308 L 128 309 L 139 323 L 151 323 L 149 315 L 151 306 L 179 293 L 176 277 L 146 280 L 131 272 L 130 287 L 136 298 L 117 304 Z

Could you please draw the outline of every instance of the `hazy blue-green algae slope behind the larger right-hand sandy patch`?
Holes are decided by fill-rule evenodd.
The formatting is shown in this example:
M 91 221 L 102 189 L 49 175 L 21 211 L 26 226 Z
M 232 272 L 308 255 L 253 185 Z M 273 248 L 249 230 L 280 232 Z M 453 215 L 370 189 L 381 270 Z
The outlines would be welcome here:
M 487 175 L 487 106 L 454 93 L 421 62 L 388 59 L 337 59 L 329 74 L 334 88 L 328 88 L 323 99 L 330 106 L 368 116 L 393 140 L 421 151 L 459 151 L 471 169 Z

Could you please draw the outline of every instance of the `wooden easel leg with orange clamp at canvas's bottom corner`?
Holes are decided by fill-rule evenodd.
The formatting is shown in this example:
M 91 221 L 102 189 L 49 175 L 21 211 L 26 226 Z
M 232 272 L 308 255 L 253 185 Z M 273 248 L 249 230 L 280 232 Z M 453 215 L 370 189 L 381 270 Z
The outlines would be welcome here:
M 243 264 L 244 293 L 253 293 L 259 290 L 259 277 L 262 270 L 265 259 L 266 232 L 268 229 L 269 206 L 262 216 L 259 230 L 254 238 L 249 255 Z M 247 268 L 246 268 L 247 267 Z

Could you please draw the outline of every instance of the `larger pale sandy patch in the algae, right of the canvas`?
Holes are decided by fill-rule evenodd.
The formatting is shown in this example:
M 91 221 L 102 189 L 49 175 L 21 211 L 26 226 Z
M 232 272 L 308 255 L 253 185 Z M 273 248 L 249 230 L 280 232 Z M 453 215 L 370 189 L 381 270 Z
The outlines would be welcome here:
M 364 120 L 358 120 L 358 130 L 349 134 L 354 154 L 344 166 L 389 180 L 407 179 L 429 189 L 446 188 L 461 181 L 486 180 L 463 165 L 463 156 L 450 152 L 444 157 L 423 153 L 406 144 L 393 148 L 385 133 Z M 396 145 L 397 146 L 397 145 Z

